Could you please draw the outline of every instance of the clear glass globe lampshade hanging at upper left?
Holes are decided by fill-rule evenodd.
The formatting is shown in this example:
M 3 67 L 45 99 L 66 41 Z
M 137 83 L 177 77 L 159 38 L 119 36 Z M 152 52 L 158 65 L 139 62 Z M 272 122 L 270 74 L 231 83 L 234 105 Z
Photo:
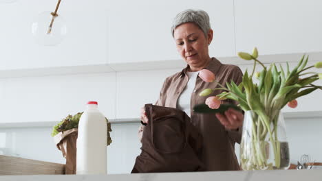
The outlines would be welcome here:
M 67 34 L 65 21 L 53 12 L 41 12 L 32 23 L 32 34 L 39 45 L 55 46 Z

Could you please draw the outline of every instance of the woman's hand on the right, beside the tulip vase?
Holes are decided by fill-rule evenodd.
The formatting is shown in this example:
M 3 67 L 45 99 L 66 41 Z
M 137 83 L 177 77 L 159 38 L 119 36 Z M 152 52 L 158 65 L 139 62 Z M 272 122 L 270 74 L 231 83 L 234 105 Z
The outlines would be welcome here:
M 237 130 L 243 125 L 244 114 L 232 108 L 226 110 L 224 114 L 217 113 L 216 117 L 228 130 Z

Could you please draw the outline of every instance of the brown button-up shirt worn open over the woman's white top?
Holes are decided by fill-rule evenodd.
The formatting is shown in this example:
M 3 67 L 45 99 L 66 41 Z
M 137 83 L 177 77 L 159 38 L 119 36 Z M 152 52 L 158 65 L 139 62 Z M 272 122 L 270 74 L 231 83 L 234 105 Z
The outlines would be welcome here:
M 167 77 L 156 105 L 177 108 L 178 97 L 189 81 L 189 76 L 186 74 L 188 67 L 189 65 L 182 71 Z M 216 58 L 212 58 L 205 69 L 215 73 L 216 81 L 224 86 L 226 86 L 226 82 L 231 81 L 238 85 L 242 80 L 243 74 L 239 67 L 222 64 Z M 207 83 L 197 77 L 195 91 L 191 95 L 191 122 L 200 131 L 204 140 L 202 162 L 204 162 L 208 171 L 239 170 L 237 157 L 235 156 L 235 143 L 240 143 L 241 129 L 239 131 L 226 130 L 217 120 L 214 113 L 201 114 L 193 112 L 193 106 L 204 104 L 207 97 L 222 93 L 223 90 L 215 90 L 207 97 L 199 96 L 199 93 L 204 88 L 216 87 L 219 87 L 217 83 Z

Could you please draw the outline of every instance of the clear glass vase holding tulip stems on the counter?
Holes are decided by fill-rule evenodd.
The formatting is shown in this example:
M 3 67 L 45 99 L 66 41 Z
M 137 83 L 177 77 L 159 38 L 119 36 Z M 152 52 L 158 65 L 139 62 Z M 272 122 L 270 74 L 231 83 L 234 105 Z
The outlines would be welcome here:
M 290 167 L 286 125 L 281 110 L 246 111 L 241 136 L 240 162 L 243 170 Z

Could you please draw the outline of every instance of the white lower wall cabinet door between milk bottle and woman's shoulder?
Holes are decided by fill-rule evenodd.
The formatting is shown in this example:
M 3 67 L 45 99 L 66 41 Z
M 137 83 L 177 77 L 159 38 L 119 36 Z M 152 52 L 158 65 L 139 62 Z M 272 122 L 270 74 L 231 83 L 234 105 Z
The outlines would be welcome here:
M 144 104 L 155 104 L 166 77 L 181 71 L 127 71 L 117 73 L 116 119 L 140 119 Z

